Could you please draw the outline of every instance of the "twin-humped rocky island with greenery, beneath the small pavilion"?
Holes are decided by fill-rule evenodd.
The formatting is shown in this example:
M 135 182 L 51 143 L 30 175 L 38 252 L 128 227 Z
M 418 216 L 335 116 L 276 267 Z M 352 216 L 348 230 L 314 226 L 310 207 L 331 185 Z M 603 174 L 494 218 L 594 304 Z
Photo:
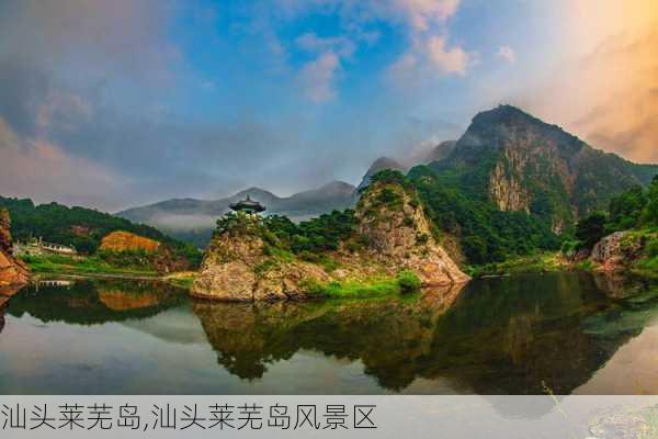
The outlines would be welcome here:
M 348 212 L 348 211 L 347 211 Z M 336 213 L 338 214 L 338 213 Z M 281 217 L 238 212 L 218 221 L 191 293 L 220 301 L 308 299 L 361 285 L 362 292 L 468 281 L 440 245 L 412 185 L 385 170 L 364 189 L 333 249 L 288 245 Z M 285 223 L 283 227 L 281 223 Z M 292 224 L 292 223 L 291 223 Z M 304 241 L 304 237 L 293 237 Z M 330 247 L 330 246 L 329 246 Z

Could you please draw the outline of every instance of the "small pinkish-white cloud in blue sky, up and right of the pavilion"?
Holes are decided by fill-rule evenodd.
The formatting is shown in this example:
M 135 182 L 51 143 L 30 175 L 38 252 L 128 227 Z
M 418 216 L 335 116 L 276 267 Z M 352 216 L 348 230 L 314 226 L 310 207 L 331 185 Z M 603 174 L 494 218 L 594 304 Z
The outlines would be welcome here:
M 304 94 L 313 102 L 325 102 L 336 97 L 333 89 L 336 72 L 340 59 L 333 52 L 325 52 L 315 60 L 306 64 L 299 72 Z

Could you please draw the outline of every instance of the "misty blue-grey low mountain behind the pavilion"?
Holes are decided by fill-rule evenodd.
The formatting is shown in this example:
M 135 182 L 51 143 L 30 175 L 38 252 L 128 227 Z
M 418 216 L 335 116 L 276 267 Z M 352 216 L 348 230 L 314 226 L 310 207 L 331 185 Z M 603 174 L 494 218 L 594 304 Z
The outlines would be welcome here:
M 205 247 L 219 216 L 228 212 L 229 205 L 249 195 L 268 210 L 266 214 L 304 221 L 333 210 L 343 210 L 353 204 L 355 188 L 333 181 L 321 188 L 280 198 L 259 188 L 250 188 L 220 200 L 174 199 L 128 209 L 116 215 L 136 223 L 149 224 L 166 230 L 171 236 Z

